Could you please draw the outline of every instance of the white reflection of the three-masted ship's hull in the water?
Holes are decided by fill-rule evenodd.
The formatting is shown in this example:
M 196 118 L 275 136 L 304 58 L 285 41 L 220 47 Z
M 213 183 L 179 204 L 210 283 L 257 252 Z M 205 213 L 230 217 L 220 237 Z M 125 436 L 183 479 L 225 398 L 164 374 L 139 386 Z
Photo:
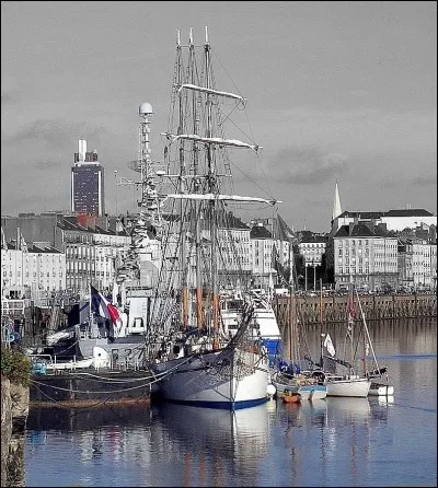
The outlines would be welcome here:
M 184 457 L 184 486 L 205 485 L 206 463 L 212 466 L 215 486 L 230 486 L 230 466 L 247 486 L 256 486 L 269 443 L 267 405 L 228 411 L 163 404 L 154 415 L 162 429 L 162 454 L 176 443 Z

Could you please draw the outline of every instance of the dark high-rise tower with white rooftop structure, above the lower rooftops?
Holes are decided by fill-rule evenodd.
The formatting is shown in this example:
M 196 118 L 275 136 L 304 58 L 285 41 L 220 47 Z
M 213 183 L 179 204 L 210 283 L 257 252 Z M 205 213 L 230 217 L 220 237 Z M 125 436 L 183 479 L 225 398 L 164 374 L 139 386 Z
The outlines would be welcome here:
M 79 139 L 71 167 L 71 211 L 96 217 L 105 213 L 104 169 L 96 151 L 87 152 L 85 139 Z

